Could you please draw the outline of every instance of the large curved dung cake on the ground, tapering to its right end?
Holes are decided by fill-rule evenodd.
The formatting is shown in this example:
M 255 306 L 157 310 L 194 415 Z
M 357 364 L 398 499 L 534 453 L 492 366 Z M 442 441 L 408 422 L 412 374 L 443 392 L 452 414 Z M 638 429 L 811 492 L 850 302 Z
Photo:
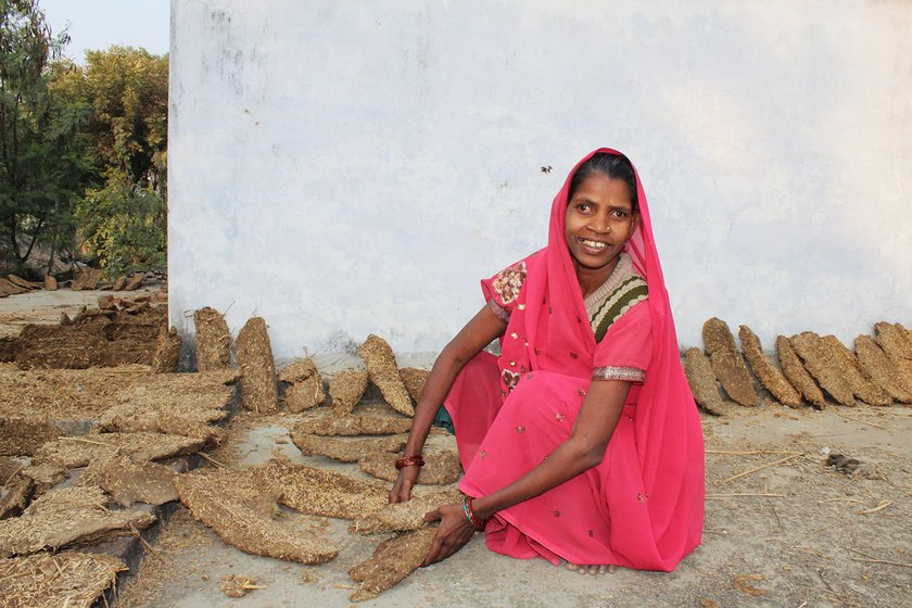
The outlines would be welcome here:
M 176 485 L 193 517 L 245 553 L 301 563 L 325 563 L 339 553 L 324 535 L 275 519 L 278 493 L 250 469 L 194 471 L 178 476 Z

